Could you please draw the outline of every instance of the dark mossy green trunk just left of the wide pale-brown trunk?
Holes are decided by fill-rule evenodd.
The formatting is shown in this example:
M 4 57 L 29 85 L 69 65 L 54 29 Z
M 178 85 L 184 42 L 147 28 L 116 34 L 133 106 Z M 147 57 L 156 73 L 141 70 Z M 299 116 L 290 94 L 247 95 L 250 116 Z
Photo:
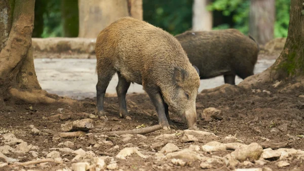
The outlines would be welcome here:
M 79 33 L 78 0 L 61 0 L 61 21 L 64 37 L 77 37 Z

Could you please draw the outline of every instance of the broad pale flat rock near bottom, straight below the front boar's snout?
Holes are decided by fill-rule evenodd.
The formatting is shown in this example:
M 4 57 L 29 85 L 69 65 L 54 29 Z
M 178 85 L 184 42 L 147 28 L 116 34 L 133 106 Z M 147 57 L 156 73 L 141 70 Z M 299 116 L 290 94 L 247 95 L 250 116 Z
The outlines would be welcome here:
M 184 149 L 182 151 L 176 151 L 173 153 L 168 153 L 166 155 L 167 158 L 177 158 L 177 159 L 185 159 L 189 161 L 195 161 L 200 160 L 203 157 L 198 154 L 197 152 L 191 150 L 191 149 Z

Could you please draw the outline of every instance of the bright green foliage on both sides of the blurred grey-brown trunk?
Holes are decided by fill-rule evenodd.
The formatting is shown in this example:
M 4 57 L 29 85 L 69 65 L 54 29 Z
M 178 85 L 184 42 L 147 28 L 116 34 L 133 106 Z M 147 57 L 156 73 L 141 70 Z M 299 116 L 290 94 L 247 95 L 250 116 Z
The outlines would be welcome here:
M 244 34 L 248 34 L 250 0 L 215 0 L 207 8 L 210 11 L 221 11 L 224 16 L 233 15 L 233 28 L 239 29 Z M 287 36 L 289 10 L 290 0 L 276 0 L 275 37 Z M 226 23 L 214 27 L 214 29 L 226 28 Z

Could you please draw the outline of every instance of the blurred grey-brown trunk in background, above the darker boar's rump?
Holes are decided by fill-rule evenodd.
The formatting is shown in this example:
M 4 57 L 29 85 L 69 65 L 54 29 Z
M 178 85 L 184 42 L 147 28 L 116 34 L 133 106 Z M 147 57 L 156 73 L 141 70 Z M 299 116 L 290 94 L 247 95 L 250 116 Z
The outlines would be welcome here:
M 249 33 L 260 45 L 274 38 L 275 0 L 250 0 Z

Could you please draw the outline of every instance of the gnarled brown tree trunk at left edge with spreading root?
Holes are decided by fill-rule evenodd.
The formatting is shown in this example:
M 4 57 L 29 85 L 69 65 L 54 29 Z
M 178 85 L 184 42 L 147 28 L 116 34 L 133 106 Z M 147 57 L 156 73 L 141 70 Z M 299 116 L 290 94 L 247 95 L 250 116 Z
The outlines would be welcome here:
M 1 28 L 8 32 L 0 49 L 0 106 L 11 97 L 27 103 L 68 102 L 41 90 L 37 81 L 31 48 L 34 5 L 35 0 L 6 0 L 4 8 L 13 12 L 0 15 Z

